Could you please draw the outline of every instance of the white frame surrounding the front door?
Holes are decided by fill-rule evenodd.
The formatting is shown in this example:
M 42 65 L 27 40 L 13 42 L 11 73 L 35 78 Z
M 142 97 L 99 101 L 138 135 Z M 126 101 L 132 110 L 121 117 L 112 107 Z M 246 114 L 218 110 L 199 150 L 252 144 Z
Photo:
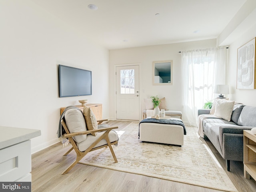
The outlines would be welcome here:
M 140 90 L 141 90 L 141 64 L 140 63 L 126 63 L 126 64 L 116 64 L 114 65 L 114 117 L 115 120 L 116 119 L 116 67 L 125 67 L 125 66 L 139 66 L 139 119 L 141 119 L 141 101 L 140 101 Z M 120 120 L 118 119 L 118 121 L 135 121 L 135 120 Z M 140 120 L 139 120 L 140 121 Z

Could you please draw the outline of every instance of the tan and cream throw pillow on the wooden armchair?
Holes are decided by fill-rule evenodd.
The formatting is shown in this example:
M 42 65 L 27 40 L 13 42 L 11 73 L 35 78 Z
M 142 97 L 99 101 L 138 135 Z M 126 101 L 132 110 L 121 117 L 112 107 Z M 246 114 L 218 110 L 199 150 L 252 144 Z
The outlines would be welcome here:
M 86 127 L 88 130 L 96 130 L 98 129 L 98 123 L 96 120 L 95 115 L 93 114 L 92 110 L 84 106 L 84 119 L 86 122 Z M 93 136 L 96 136 L 97 133 L 92 133 Z

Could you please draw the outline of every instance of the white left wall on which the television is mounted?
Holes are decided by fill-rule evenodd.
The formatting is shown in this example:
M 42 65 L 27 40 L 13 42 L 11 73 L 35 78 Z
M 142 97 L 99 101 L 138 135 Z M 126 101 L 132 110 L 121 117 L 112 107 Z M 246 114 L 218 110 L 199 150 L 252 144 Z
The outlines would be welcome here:
M 92 96 L 59 98 L 58 64 L 91 70 Z M 32 1 L 0 1 L 0 65 L 0 126 L 41 130 L 32 152 L 57 142 L 60 107 L 88 99 L 108 118 L 108 50 Z

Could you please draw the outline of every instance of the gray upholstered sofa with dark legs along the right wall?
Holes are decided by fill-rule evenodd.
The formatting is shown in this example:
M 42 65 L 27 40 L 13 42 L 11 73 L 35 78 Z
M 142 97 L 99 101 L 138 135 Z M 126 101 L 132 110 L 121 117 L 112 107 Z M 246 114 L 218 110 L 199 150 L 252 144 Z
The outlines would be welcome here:
M 198 118 L 210 110 L 199 109 Z M 243 161 L 243 130 L 256 127 L 256 107 L 235 104 L 231 120 L 211 117 L 202 120 L 204 136 L 212 142 L 230 171 L 230 160 Z

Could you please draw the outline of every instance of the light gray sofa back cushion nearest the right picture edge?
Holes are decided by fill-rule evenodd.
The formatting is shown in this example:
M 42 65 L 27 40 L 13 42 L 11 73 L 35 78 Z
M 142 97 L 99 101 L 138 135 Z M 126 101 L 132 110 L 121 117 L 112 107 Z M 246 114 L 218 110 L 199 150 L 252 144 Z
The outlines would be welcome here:
M 256 107 L 244 106 L 238 118 L 237 124 L 240 126 L 256 127 Z

